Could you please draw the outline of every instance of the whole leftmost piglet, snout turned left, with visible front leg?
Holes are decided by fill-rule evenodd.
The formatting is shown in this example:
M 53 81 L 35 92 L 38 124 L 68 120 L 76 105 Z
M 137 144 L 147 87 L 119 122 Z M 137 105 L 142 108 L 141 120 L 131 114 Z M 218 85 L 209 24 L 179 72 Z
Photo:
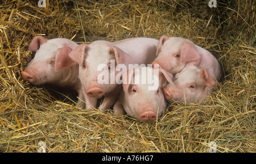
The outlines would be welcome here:
M 36 54 L 21 73 L 22 77 L 35 85 L 51 83 L 60 87 L 70 87 L 79 93 L 79 105 L 85 107 L 78 77 L 79 65 L 69 66 L 73 61 L 68 53 L 77 46 L 75 42 L 64 38 L 48 40 L 42 36 L 34 37 L 28 50 L 35 51 Z

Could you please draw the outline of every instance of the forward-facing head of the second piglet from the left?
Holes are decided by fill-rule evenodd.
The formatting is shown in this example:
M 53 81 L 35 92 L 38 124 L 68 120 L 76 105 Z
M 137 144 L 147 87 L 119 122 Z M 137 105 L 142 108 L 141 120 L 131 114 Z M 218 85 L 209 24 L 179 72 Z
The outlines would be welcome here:
M 79 64 L 79 78 L 86 94 L 95 98 L 114 91 L 118 73 L 115 67 L 129 58 L 129 54 L 108 41 L 81 44 L 69 56 Z

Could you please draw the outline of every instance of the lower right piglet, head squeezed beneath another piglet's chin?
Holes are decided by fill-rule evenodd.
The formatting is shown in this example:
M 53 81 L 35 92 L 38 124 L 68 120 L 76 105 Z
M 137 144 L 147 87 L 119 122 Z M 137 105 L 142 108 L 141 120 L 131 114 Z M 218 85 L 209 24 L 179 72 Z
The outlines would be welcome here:
M 164 97 L 177 102 L 197 103 L 205 100 L 217 83 L 210 76 L 207 69 L 188 66 L 177 73 L 170 83 L 164 87 Z

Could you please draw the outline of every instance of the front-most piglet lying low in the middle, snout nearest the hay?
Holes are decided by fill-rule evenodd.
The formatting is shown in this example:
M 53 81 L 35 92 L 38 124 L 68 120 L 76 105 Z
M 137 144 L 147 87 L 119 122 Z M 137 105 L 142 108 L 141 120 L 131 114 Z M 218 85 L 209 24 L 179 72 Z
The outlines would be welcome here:
M 161 116 L 166 102 L 162 88 L 172 83 L 172 74 L 163 69 L 141 67 L 122 74 L 123 90 L 114 104 L 114 112 L 125 112 L 140 121 L 154 121 Z

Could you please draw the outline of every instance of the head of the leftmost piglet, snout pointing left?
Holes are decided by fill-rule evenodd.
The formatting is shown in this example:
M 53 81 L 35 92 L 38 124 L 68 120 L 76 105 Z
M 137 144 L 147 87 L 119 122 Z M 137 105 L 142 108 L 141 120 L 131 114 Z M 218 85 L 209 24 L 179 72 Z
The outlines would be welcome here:
M 56 83 L 61 85 L 60 80 L 65 79 L 64 72 L 69 62 L 68 53 L 77 46 L 68 39 L 47 40 L 42 36 L 36 36 L 31 41 L 28 49 L 35 51 L 35 57 L 21 73 L 23 78 L 35 85 L 44 83 Z

